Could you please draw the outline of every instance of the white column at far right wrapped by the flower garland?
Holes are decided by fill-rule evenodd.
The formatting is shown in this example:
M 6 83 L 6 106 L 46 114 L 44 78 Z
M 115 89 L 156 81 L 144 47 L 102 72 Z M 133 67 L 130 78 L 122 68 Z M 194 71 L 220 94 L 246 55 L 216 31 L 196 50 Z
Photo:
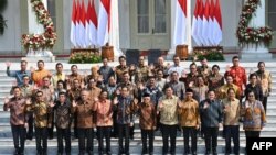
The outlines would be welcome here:
M 258 5 L 255 14 L 253 14 L 248 26 L 251 26 L 251 27 L 265 26 L 265 0 L 261 0 L 261 5 Z M 245 45 L 241 52 L 241 56 L 243 59 L 245 59 L 245 58 L 258 58 L 258 57 L 259 58 L 270 58 L 272 57 L 272 55 L 268 53 L 268 48 L 266 46 L 264 46 L 264 44 Z

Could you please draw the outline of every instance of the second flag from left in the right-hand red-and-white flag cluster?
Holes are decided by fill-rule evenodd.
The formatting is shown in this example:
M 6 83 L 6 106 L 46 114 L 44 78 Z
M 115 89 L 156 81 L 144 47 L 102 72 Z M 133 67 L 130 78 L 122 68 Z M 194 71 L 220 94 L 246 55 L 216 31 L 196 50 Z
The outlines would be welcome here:
M 208 38 L 209 34 L 209 0 L 205 2 L 204 15 L 203 15 L 203 24 L 202 24 L 202 37 L 204 40 L 203 45 L 210 46 L 210 42 Z

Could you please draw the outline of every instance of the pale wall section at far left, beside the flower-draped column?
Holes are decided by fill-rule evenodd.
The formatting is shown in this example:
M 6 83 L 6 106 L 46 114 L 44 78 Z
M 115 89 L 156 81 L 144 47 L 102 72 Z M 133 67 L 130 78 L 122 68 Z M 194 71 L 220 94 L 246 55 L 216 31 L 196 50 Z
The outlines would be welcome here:
M 0 55 L 21 53 L 20 0 L 8 0 L 3 16 L 8 27 L 0 35 Z

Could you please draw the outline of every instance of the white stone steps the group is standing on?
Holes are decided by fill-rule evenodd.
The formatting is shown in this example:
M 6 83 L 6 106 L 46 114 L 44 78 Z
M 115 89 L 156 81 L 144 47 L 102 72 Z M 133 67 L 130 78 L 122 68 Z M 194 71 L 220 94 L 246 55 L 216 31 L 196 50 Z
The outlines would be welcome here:
M 169 62 L 171 65 L 172 62 Z M 191 62 L 181 62 L 181 66 L 183 66 L 187 70 Z M 118 63 L 110 63 L 110 65 L 115 66 Z M 199 64 L 199 63 L 198 63 Z M 213 64 L 219 64 L 221 66 L 221 71 L 225 71 L 225 66 L 231 65 L 231 63 L 223 62 L 223 63 L 210 63 L 210 66 Z M 9 112 L 4 112 L 3 107 L 3 99 L 6 96 L 10 96 L 10 87 L 12 86 L 12 82 L 15 81 L 14 78 L 7 77 L 6 75 L 6 65 L 4 63 L 0 63 L 0 155 L 10 155 L 13 153 L 13 142 L 12 142 L 12 135 L 11 135 L 11 129 L 9 124 Z M 72 64 L 64 64 L 64 69 L 66 74 L 70 74 L 70 67 Z M 77 64 L 79 68 L 79 73 L 83 74 L 87 71 L 89 74 L 89 68 L 95 65 L 102 65 L 102 64 Z M 257 63 L 241 63 L 242 66 L 246 68 L 246 71 L 250 73 L 250 70 L 253 68 L 256 70 Z M 36 66 L 35 63 L 29 63 L 30 66 Z M 45 68 L 54 71 L 55 63 L 46 63 Z M 276 63 L 266 63 L 266 68 L 269 70 L 273 75 L 273 92 L 270 93 L 270 97 L 268 98 L 268 104 L 267 104 L 267 125 L 264 128 L 264 130 L 261 132 L 261 136 L 276 136 Z M 11 69 L 19 69 L 19 63 L 13 63 Z M 136 121 L 136 126 L 138 126 L 138 121 Z M 179 135 L 177 137 L 177 154 L 183 153 L 183 137 L 180 132 L 178 132 Z M 240 135 L 241 135 L 241 153 L 244 154 L 244 147 L 245 147 L 245 135 L 244 131 L 242 129 L 242 124 L 240 128 Z M 160 133 L 157 132 L 157 136 L 155 139 L 155 154 L 161 154 L 161 141 Z M 94 151 L 95 154 L 97 154 L 97 141 L 94 140 Z M 26 141 L 26 155 L 35 154 L 35 140 L 33 141 Z M 49 154 L 56 154 L 56 139 L 49 140 Z M 78 153 L 78 144 L 77 140 L 72 141 L 72 154 L 75 155 Z M 224 154 L 224 147 L 225 142 L 224 139 L 219 137 L 219 147 L 217 152 L 219 154 Z M 205 143 L 204 141 L 199 137 L 198 139 L 198 153 L 203 154 L 205 150 Z M 117 154 L 118 152 L 118 140 L 112 139 L 112 152 L 113 154 Z M 141 152 L 141 140 L 140 140 L 140 130 L 139 128 L 136 128 L 135 130 L 135 139 L 130 141 L 130 153 L 134 154 L 140 154 Z

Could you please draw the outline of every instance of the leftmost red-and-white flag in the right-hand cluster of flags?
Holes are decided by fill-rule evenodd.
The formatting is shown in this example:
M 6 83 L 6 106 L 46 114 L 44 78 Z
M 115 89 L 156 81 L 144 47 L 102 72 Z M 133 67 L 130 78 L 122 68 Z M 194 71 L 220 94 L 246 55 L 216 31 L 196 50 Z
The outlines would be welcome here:
M 200 1 L 201 0 L 197 0 L 195 9 L 193 12 L 193 18 L 192 18 L 192 38 L 194 40 L 197 45 L 201 45 L 201 41 L 198 37 L 198 19 L 199 19 Z

